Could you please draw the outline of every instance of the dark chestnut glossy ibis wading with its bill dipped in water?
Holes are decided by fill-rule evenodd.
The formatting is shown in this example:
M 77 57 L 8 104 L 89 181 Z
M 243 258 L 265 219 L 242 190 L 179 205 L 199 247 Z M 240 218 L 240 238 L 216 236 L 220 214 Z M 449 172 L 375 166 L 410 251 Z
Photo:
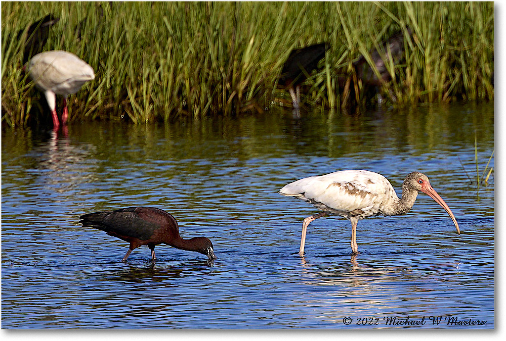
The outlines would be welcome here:
M 132 250 L 147 245 L 155 260 L 155 245 L 164 243 L 176 249 L 195 251 L 216 259 L 213 243 L 206 237 L 183 239 L 179 235 L 176 218 L 154 207 L 129 207 L 114 211 L 88 213 L 80 216 L 82 226 L 90 226 L 130 243 L 123 257 L 126 261 Z

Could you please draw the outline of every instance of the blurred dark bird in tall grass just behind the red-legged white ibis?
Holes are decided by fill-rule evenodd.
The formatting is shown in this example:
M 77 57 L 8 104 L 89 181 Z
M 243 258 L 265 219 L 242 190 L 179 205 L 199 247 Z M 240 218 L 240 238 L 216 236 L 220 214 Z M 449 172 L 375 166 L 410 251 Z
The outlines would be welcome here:
M 26 40 L 24 42 L 23 64 L 26 64 L 31 56 L 42 52 L 49 37 L 49 30 L 59 20 L 60 18 L 57 18 L 52 14 L 48 14 L 28 27 L 28 30 L 26 31 Z M 21 30 L 18 32 L 18 40 L 23 38 L 24 31 L 25 30 Z

